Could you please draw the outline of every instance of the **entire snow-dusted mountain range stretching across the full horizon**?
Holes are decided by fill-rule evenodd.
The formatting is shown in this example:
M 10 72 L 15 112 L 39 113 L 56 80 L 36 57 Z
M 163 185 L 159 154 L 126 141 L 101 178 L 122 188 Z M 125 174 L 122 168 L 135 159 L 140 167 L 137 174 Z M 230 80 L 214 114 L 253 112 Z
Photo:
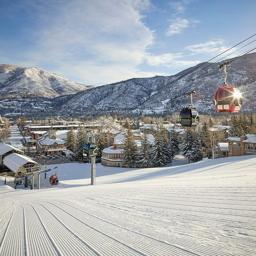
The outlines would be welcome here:
M 237 86 L 243 94 L 241 112 L 256 112 L 256 62 L 252 63 L 255 60 L 256 53 L 250 53 L 227 67 L 227 83 Z M 223 84 L 223 70 L 218 69 L 218 64 L 224 61 L 200 63 L 173 76 L 132 78 L 98 87 L 77 84 L 41 68 L 0 65 L 0 111 L 24 113 L 61 109 L 81 113 L 137 109 L 143 112 L 158 107 L 163 111 L 180 111 L 190 106 L 186 94 L 196 90 L 193 106 L 199 113 L 213 114 L 216 113 L 214 93 Z M 31 95 L 14 97 L 15 92 Z M 64 96 L 66 94 L 69 95 Z M 51 99 L 49 96 L 59 97 Z

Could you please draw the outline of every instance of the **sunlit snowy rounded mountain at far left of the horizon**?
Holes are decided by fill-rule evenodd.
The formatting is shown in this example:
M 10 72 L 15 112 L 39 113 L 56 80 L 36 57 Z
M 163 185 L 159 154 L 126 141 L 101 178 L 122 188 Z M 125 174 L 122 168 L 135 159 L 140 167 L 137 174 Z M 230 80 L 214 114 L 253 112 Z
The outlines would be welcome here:
M 56 97 L 63 94 L 74 94 L 91 87 L 77 84 L 42 68 L 0 65 L 0 95 L 32 93 Z

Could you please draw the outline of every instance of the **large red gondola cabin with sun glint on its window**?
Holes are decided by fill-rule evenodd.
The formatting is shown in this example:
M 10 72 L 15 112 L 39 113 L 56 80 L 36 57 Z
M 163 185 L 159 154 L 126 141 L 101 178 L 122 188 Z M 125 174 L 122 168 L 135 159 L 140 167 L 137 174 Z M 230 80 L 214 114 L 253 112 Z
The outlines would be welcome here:
M 214 95 L 214 106 L 218 112 L 237 113 L 243 104 L 241 93 L 236 87 L 219 87 Z

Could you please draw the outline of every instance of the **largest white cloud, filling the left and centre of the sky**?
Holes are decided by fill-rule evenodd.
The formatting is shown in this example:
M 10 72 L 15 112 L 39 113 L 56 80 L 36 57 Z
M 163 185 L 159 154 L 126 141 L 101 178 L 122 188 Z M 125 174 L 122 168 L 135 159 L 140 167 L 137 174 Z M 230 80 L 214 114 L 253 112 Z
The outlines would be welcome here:
M 57 0 L 51 4 L 50 0 L 29 1 L 27 8 L 36 11 L 40 25 L 31 34 L 34 45 L 26 52 L 24 64 L 44 67 L 44 63 L 52 62 L 56 68 L 51 71 L 60 71 L 60 75 L 70 66 L 80 67 L 88 77 L 95 73 L 96 83 L 97 74 L 104 73 L 104 83 L 108 83 L 114 82 L 115 73 L 121 71 L 117 67 L 125 66 L 129 77 L 138 75 L 136 66 L 154 43 L 154 31 L 143 22 L 145 11 L 152 6 L 149 0 Z M 45 8 L 48 4 L 50 11 Z M 75 68 L 72 70 L 81 74 Z M 122 72 L 125 76 L 125 68 Z M 86 80 L 86 75 L 83 76 Z

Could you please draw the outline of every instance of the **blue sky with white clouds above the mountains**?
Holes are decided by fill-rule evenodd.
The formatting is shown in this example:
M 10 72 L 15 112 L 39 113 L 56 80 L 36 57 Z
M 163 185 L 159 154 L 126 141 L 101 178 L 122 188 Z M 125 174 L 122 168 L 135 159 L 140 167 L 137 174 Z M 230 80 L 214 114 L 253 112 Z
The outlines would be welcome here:
M 44 68 L 82 84 L 174 75 L 256 33 L 254 0 L 0 3 L 0 64 Z

